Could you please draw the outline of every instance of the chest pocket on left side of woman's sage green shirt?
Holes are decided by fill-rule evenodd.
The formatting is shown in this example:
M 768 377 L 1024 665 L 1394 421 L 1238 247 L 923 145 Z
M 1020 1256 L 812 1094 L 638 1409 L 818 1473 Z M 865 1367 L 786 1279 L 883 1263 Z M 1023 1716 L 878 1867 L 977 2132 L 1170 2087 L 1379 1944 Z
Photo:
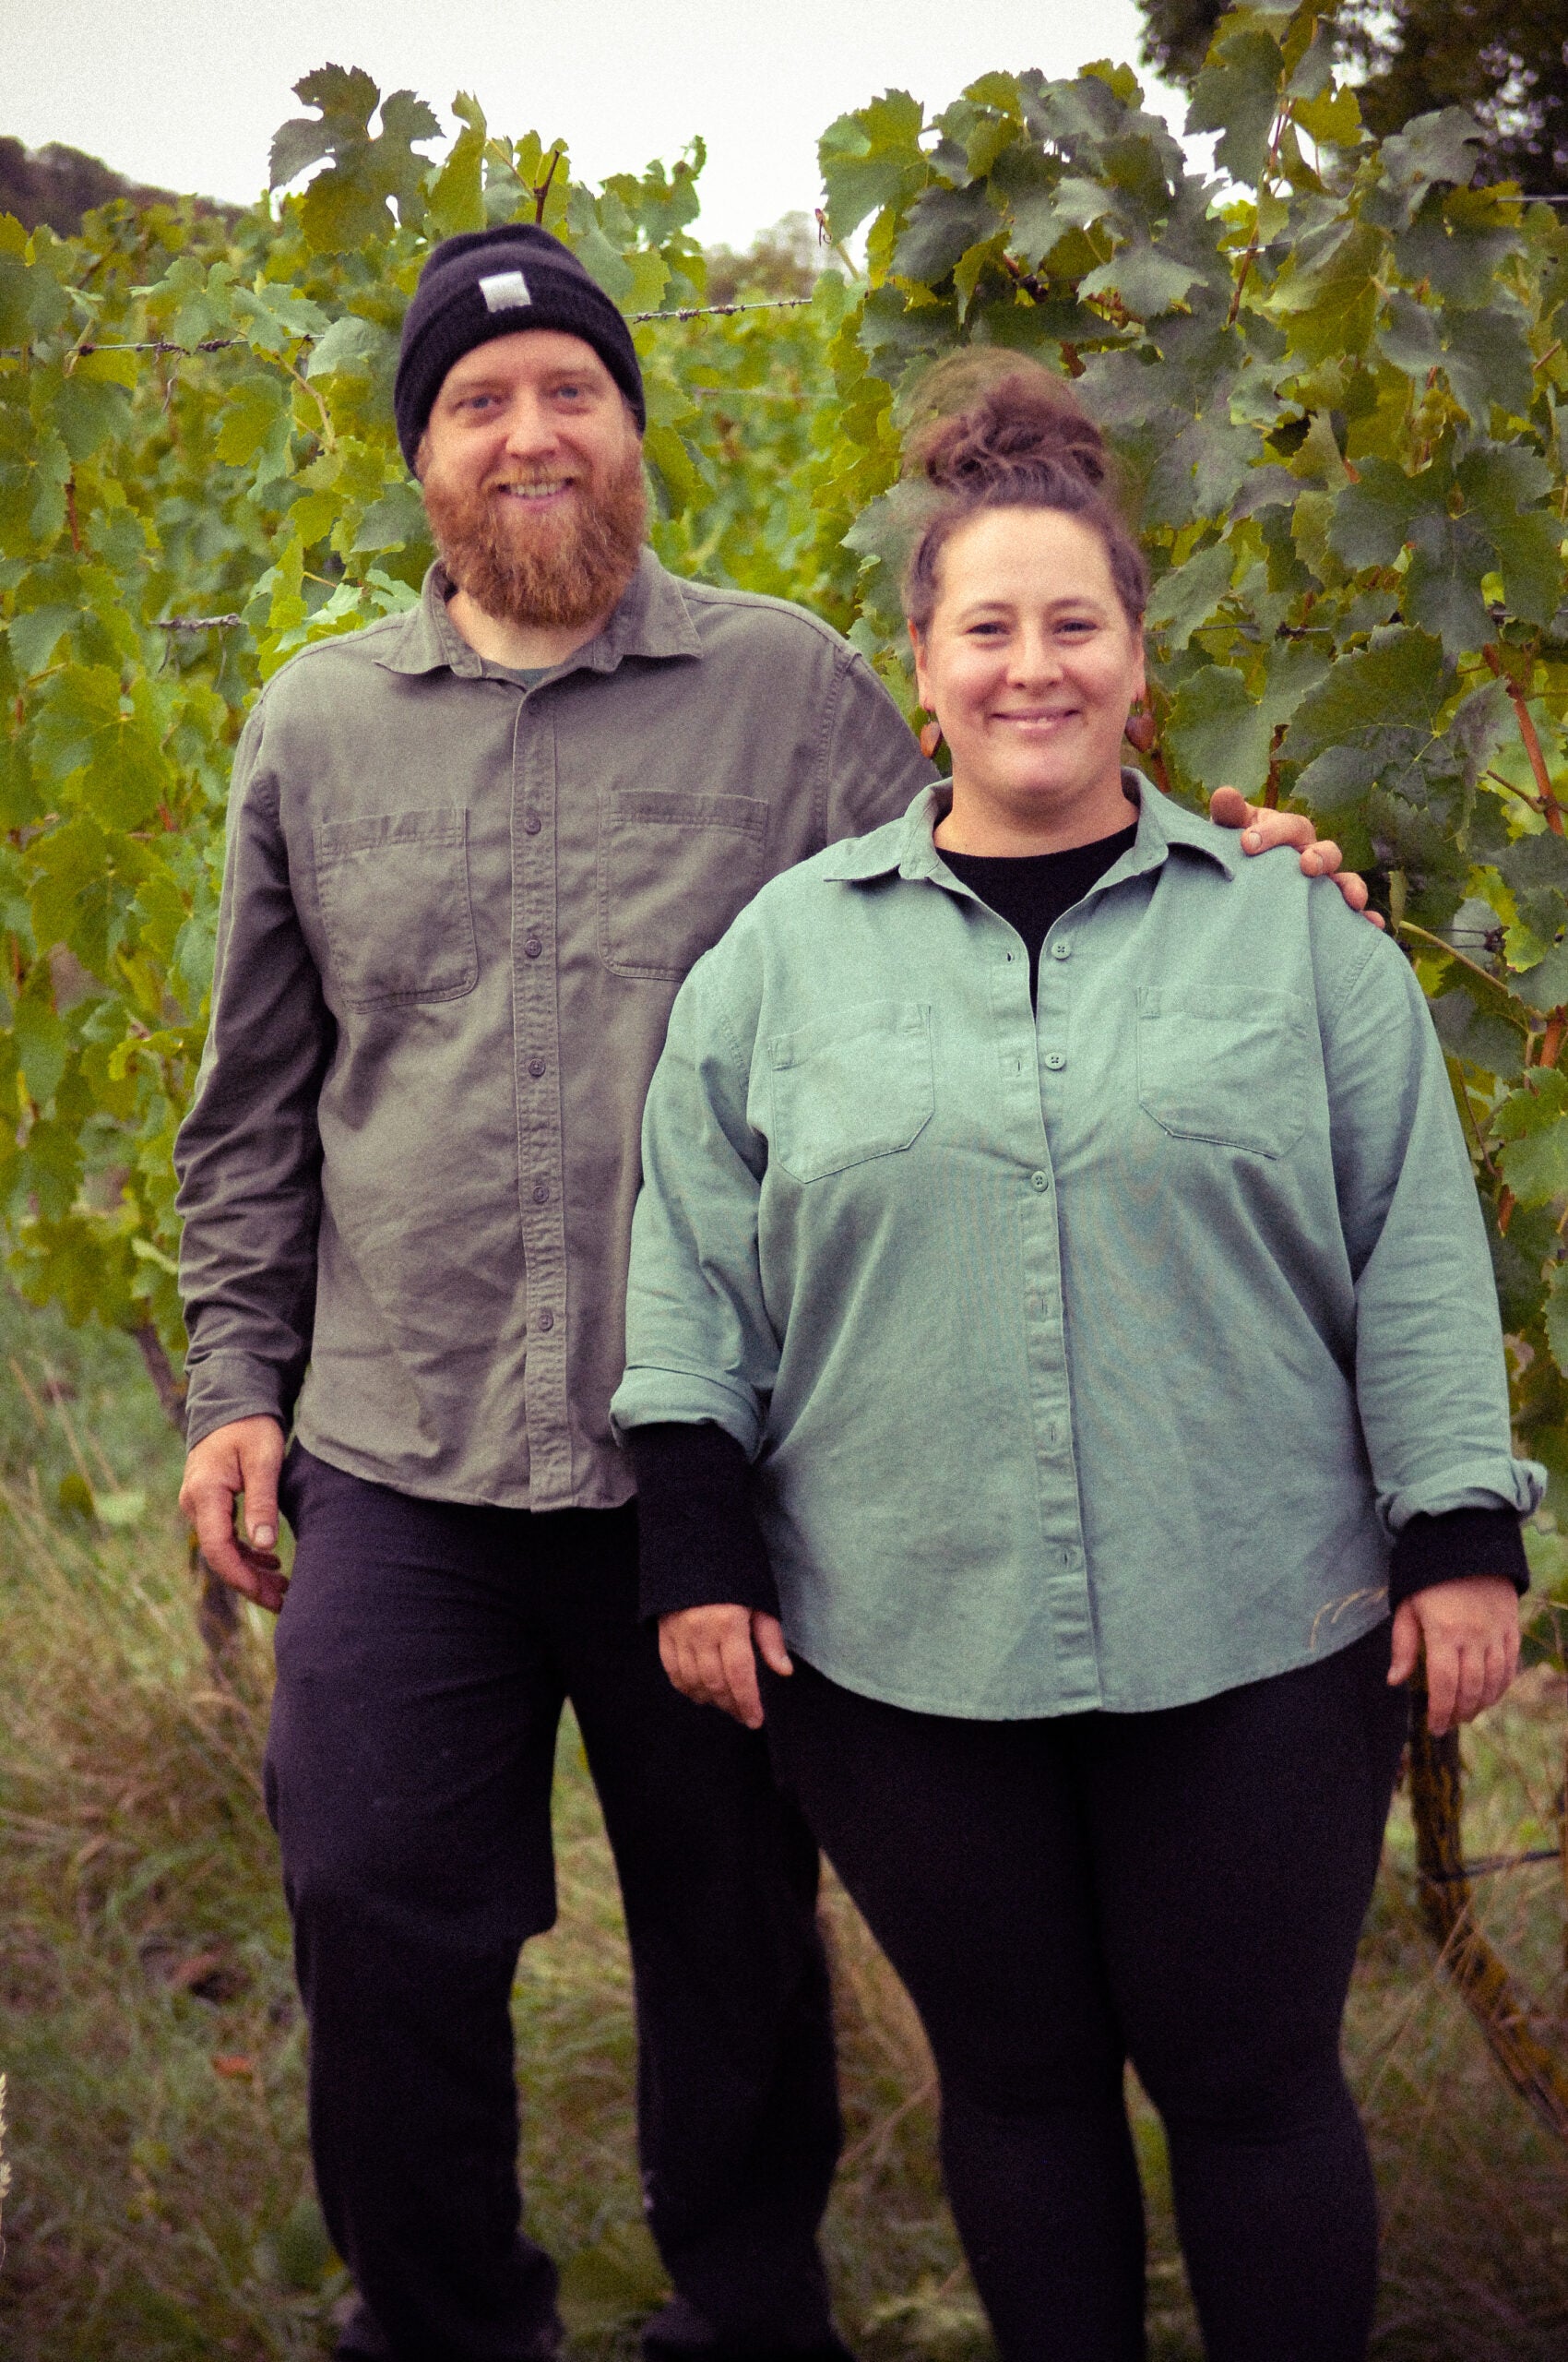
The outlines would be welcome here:
M 824 1181 L 912 1148 L 935 1108 L 930 1006 L 867 1001 L 767 1044 L 770 1157 Z

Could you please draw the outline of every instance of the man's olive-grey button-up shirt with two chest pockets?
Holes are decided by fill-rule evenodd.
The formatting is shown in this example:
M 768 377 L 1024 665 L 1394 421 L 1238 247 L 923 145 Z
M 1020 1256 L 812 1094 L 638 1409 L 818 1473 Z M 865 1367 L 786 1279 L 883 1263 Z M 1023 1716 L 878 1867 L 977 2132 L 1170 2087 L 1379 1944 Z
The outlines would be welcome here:
M 756 888 L 930 765 L 862 657 L 645 553 L 534 687 L 432 569 L 260 694 L 179 1134 L 189 1436 L 272 1412 L 404 1493 L 612 1507 L 642 1096 Z M 300 1391 L 302 1389 L 302 1391 Z

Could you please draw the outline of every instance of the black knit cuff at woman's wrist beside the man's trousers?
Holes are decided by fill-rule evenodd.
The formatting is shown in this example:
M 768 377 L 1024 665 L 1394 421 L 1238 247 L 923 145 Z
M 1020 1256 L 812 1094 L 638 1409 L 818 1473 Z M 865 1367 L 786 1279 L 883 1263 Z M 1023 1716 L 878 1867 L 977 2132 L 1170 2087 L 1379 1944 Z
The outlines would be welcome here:
M 633 1427 L 640 1611 L 741 1606 L 779 1613 L 767 1549 L 751 1507 L 751 1462 L 723 1427 Z

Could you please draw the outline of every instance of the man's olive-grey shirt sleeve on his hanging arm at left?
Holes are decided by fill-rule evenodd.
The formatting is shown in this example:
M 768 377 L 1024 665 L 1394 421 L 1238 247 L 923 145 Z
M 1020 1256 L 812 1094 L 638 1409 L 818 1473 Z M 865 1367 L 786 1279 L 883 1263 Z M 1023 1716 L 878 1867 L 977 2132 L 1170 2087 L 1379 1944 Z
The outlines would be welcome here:
M 333 1039 L 257 709 L 234 763 L 213 1020 L 175 1143 L 189 1443 L 229 1420 L 293 1417 L 316 1306 L 316 1098 Z

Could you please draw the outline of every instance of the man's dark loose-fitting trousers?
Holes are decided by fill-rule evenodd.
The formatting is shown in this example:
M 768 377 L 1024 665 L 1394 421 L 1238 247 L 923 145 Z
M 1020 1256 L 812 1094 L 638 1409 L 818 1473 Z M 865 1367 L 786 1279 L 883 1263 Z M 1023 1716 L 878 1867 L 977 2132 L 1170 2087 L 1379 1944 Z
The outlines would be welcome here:
M 517 2362 L 553 2319 L 555 2268 L 520 2230 L 508 2003 L 555 1918 L 564 1698 L 626 1904 L 649 2227 L 727 2345 L 822 2343 L 841 2123 L 817 1854 L 760 1734 L 666 1682 L 635 1509 L 413 1500 L 295 1446 L 283 1512 L 267 1809 L 366 2353 L 378 2329 L 399 2362 Z

